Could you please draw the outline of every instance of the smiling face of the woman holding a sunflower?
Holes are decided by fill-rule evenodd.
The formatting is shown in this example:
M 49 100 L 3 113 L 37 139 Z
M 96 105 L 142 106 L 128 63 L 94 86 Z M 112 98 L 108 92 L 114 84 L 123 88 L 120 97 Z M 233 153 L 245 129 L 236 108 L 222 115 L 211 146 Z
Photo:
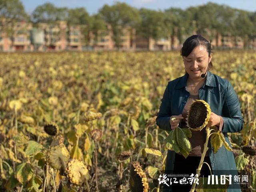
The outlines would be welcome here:
M 202 80 L 201 74 L 206 72 L 208 62 L 210 63 L 211 59 L 212 55 L 208 57 L 208 52 L 204 46 L 196 46 L 187 57 L 183 57 L 185 70 L 189 77 L 192 80 Z

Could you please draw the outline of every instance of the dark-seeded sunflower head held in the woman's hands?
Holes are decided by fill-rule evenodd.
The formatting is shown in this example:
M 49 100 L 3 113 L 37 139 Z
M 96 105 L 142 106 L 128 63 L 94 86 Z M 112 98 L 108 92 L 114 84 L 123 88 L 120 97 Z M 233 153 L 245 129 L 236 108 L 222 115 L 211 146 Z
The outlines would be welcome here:
M 210 120 L 210 105 L 204 100 L 194 100 L 188 111 L 187 126 L 194 130 L 202 130 Z

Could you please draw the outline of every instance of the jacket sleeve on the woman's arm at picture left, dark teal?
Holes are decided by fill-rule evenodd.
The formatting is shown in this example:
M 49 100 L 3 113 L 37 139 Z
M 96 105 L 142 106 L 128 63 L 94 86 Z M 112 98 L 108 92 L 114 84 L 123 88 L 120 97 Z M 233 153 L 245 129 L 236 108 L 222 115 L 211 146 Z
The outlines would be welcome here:
M 166 131 L 172 130 L 170 125 L 171 104 L 169 84 L 170 82 L 168 83 L 164 91 L 164 96 L 161 100 L 162 103 L 160 105 L 160 109 L 156 118 L 156 124 L 159 126 L 159 128 Z

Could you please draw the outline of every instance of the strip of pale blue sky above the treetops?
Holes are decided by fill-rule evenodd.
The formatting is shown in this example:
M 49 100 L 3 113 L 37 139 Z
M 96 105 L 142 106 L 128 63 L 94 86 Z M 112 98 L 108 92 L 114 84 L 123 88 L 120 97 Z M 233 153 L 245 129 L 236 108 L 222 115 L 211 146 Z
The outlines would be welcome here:
M 98 10 L 104 5 L 112 5 L 116 0 L 20 0 L 26 12 L 31 14 L 33 10 L 45 2 L 51 2 L 57 7 L 84 7 L 89 14 L 97 13 Z M 149 8 L 154 10 L 164 10 L 170 7 L 186 9 L 189 6 L 197 6 L 206 4 L 209 0 L 119 0 L 119 2 L 126 2 L 130 6 L 136 8 Z M 233 8 L 248 10 L 251 12 L 256 11 L 256 0 L 212 0 L 211 2 L 218 4 L 225 4 Z

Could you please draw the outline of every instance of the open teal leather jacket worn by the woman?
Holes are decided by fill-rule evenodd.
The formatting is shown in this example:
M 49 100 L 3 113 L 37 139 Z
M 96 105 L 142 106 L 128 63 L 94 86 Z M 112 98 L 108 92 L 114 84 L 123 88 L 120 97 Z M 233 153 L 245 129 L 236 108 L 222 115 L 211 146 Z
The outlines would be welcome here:
M 186 89 L 188 73 L 168 82 L 160 105 L 160 110 L 156 118 L 156 124 L 160 129 L 171 131 L 170 116 L 182 114 L 183 108 L 190 96 Z M 206 101 L 217 115 L 222 116 L 224 124 L 222 133 L 229 146 L 228 132 L 240 132 L 243 128 L 244 119 L 242 118 L 238 96 L 230 82 L 221 78 L 210 71 L 206 74 L 204 85 L 199 89 L 199 99 Z M 206 131 L 203 129 L 205 136 Z M 216 154 L 212 151 L 212 146 L 208 142 L 208 154 L 212 166 L 212 174 L 215 170 L 237 170 L 234 154 L 226 150 L 224 145 Z M 174 168 L 175 152 L 168 150 L 166 158 L 166 170 Z M 170 191 L 171 190 L 165 190 Z M 228 192 L 240 192 L 240 189 L 228 189 Z

